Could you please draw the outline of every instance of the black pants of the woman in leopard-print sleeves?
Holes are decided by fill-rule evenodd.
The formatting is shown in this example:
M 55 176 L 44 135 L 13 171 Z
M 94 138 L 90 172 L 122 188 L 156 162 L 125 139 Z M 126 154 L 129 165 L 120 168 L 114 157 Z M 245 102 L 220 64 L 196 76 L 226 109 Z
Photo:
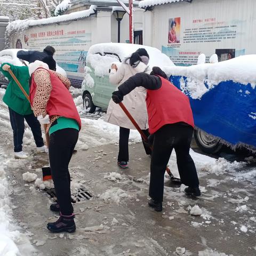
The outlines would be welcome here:
M 68 165 L 77 139 L 78 131 L 73 128 L 58 130 L 50 135 L 49 159 L 52 180 L 63 215 L 73 213 Z

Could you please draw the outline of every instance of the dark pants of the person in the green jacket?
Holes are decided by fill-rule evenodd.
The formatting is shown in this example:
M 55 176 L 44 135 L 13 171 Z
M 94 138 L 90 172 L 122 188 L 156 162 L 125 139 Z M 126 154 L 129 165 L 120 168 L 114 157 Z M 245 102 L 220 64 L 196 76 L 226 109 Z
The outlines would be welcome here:
M 23 134 L 25 131 L 24 119 L 28 123 L 29 127 L 34 136 L 34 140 L 36 142 L 37 147 L 44 146 L 44 140 L 42 138 L 41 125 L 35 117 L 34 113 L 30 115 L 20 115 L 17 112 L 13 111 L 9 108 L 10 113 L 10 121 L 13 130 L 13 144 L 14 144 L 14 152 L 22 151 L 22 143 L 23 143 Z

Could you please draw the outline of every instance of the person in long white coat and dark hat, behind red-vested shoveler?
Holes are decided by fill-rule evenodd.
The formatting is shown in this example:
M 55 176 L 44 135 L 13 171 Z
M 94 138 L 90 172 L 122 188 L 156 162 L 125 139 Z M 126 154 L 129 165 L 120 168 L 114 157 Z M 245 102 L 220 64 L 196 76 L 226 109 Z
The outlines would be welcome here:
M 147 66 L 148 62 L 149 55 L 147 51 L 143 48 L 138 49 L 136 52 L 132 53 L 130 58 L 125 59 L 118 69 L 115 64 L 111 65 L 109 75 L 110 83 L 120 85 L 137 73 L 149 71 Z M 146 90 L 143 87 L 137 87 L 131 93 L 125 95 L 123 103 L 140 126 L 140 129 L 148 136 Z M 135 130 L 135 127 L 127 118 L 121 107 L 115 104 L 112 99 L 109 102 L 105 121 L 110 124 L 120 126 L 117 164 L 122 168 L 127 168 L 127 162 L 129 162 L 129 134 L 130 129 Z M 151 155 L 150 148 L 148 148 L 144 143 L 143 145 L 146 154 Z

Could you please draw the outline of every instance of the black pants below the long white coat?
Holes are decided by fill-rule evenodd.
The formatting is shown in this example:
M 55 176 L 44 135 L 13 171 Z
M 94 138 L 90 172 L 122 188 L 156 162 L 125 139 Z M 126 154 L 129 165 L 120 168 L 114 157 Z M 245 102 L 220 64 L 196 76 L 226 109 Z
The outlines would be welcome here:
M 142 130 L 145 135 L 148 137 L 149 136 L 149 132 L 148 130 Z M 119 130 L 119 153 L 118 153 L 118 161 L 125 161 L 128 162 L 129 161 L 129 146 L 128 146 L 128 142 L 129 142 L 129 135 L 130 135 L 130 129 L 124 128 L 124 127 L 120 127 Z M 143 142 L 143 140 L 142 140 Z M 145 148 L 146 154 L 147 155 L 151 155 L 151 149 L 149 147 L 147 147 L 144 143 L 143 146 Z

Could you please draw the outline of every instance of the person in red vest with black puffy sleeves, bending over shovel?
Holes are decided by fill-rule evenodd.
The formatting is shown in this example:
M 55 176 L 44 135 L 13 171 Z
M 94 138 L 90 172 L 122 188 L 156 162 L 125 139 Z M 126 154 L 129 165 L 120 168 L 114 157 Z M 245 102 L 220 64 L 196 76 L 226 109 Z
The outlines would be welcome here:
M 194 119 L 188 97 L 171 84 L 158 67 L 154 67 L 150 75 L 136 74 L 118 86 L 118 91 L 113 92 L 113 101 L 121 102 L 124 95 L 138 86 L 147 89 L 149 132 L 154 134 L 148 204 L 156 211 L 162 211 L 164 173 L 173 149 L 181 182 L 188 186 L 185 193 L 201 195 L 196 167 L 189 155 Z

